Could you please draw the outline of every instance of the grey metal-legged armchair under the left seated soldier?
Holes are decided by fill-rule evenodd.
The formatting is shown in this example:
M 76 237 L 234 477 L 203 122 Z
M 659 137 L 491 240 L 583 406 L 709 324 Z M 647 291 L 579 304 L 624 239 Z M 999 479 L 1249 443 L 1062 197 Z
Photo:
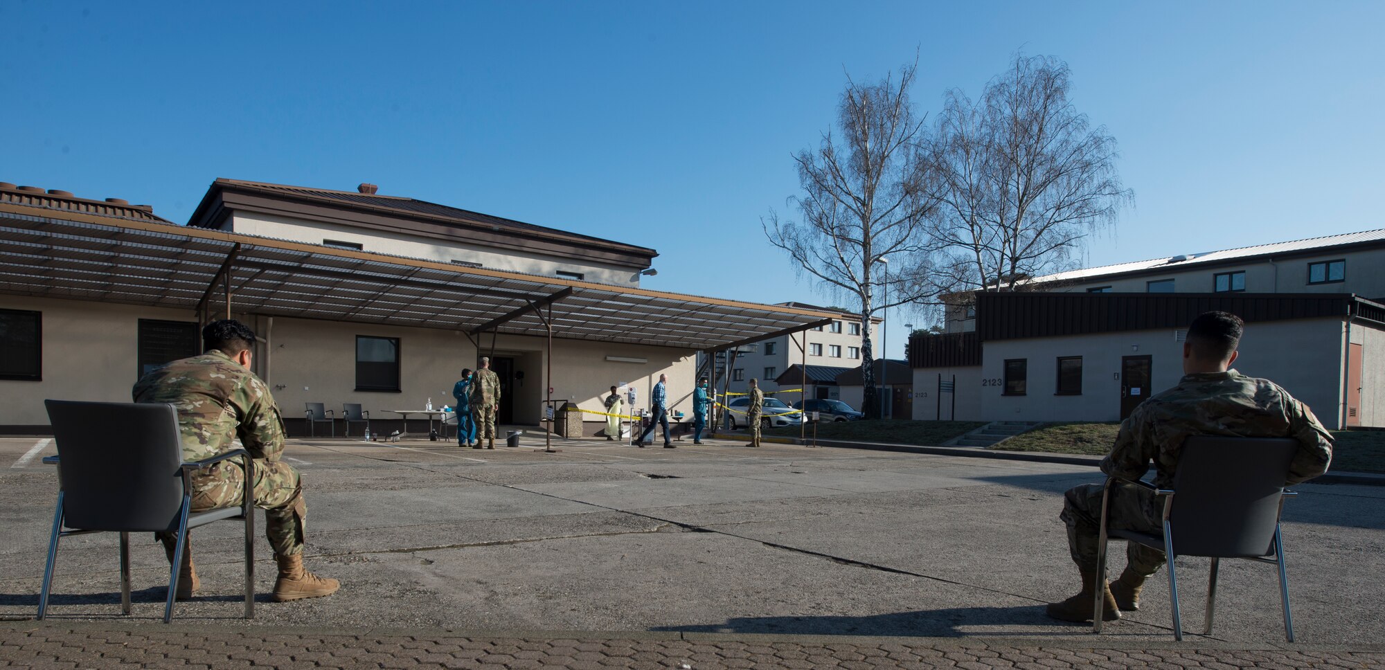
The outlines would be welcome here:
M 168 403 L 79 403 L 44 400 L 58 455 L 58 505 L 48 559 L 39 591 L 39 619 L 48 608 L 53 566 L 61 537 L 120 533 L 120 610 L 130 613 L 130 533 L 177 533 L 169 570 L 163 623 L 173 619 L 179 565 L 188 530 L 222 519 L 245 523 L 245 617 L 255 617 L 255 462 L 237 449 L 198 462 L 183 462 L 177 411 Z M 242 457 L 245 500 L 240 507 L 191 512 L 191 473 Z M 68 530 L 64 530 L 68 529 Z

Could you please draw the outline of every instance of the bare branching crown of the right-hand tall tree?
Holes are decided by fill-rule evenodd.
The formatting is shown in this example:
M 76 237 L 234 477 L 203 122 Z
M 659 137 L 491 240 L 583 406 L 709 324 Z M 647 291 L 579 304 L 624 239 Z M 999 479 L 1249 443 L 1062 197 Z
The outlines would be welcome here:
M 1068 101 L 1069 84 L 1065 62 L 1017 55 L 979 102 L 947 91 L 928 147 L 943 281 L 1014 291 L 1069 269 L 1087 235 L 1133 201 L 1115 169 L 1115 138 L 1090 127 Z

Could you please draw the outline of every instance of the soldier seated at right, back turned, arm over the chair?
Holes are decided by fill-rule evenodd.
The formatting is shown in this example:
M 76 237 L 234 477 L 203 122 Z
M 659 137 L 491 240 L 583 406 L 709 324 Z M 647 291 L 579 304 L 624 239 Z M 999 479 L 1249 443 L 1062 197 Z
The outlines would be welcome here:
M 1332 437 L 1313 411 L 1267 379 L 1230 370 L 1241 341 L 1241 318 L 1226 311 L 1208 311 L 1188 327 L 1183 345 L 1184 377 L 1177 386 L 1150 397 L 1120 424 L 1101 471 L 1137 480 L 1154 461 L 1154 486 L 1168 489 L 1179 465 L 1183 440 L 1194 435 L 1237 437 L 1294 437 L 1299 451 L 1289 465 L 1289 479 L 1298 483 L 1327 472 L 1332 460 Z M 1068 525 L 1068 547 L 1082 572 L 1082 592 L 1048 605 L 1048 616 L 1065 622 L 1090 622 L 1097 586 L 1097 543 L 1100 541 L 1102 485 L 1068 490 L 1060 518 Z M 1163 534 L 1162 504 L 1154 491 L 1120 485 L 1111 491 L 1108 526 L 1150 534 Z M 1102 619 L 1115 620 L 1120 610 L 1140 608 L 1144 580 L 1165 563 L 1163 552 L 1129 543 L 1126 569 L 1116 581 L 1102 583 Z

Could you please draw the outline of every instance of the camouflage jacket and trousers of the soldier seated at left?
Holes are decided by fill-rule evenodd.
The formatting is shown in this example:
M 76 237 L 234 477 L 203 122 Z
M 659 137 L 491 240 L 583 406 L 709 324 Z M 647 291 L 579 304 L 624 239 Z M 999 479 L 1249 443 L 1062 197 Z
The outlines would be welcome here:
M 280 461 L 284 419 L 269 388 L 222 352 L 176 360 L 144 375 L 132 390 L 136 403 L 173 403 L 183 435 L 183 460 L 201 461 L 233 449 L 255 461 L 255 507 L 265 509 L 265 532 L 276 555 L 303 551 L 307 508 L 302 480 Z M 241 504 L 245 469 L 240 458 L 193 473 L 193 511 Z

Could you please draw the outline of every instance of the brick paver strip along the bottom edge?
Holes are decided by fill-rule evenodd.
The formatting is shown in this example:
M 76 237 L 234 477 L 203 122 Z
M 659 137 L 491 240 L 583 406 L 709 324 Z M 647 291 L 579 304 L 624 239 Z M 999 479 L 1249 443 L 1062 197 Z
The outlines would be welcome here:
M 209 624 L 216 626 L 216 624 Z M 564 637 L 572 635 L 572 637 Z M 0 624 L 0 667 L 33 669 L 1367 669 L 1385 645 L 582 633 L 517 637 L 157 624 Z

